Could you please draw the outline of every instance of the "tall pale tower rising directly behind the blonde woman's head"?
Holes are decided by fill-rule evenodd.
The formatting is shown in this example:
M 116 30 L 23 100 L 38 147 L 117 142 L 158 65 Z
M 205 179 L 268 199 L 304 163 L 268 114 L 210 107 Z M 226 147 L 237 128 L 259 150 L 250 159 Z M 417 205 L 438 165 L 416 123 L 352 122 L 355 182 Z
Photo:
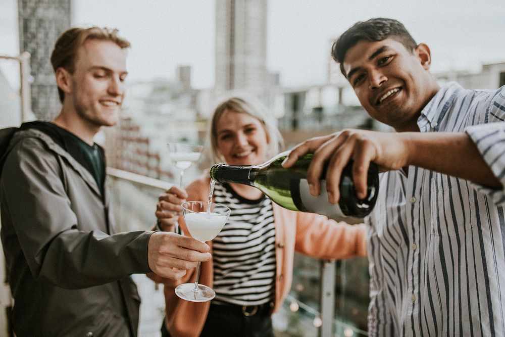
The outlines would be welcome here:
M 216 1 L 217 93 L 243 89 L 261 94 L 267 71 L 267 1 Z

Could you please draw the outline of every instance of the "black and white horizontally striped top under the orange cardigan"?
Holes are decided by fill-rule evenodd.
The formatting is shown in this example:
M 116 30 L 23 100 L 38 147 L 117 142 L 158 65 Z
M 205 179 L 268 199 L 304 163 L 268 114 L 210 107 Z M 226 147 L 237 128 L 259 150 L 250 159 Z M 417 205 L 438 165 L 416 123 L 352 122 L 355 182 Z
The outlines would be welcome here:
M 247 200 L 228 183 L 216 182 L 214 202 L 231 209 L 214 238 L 213 303 L 260 305 L 275 293 L 275 225 L 272 202 Z

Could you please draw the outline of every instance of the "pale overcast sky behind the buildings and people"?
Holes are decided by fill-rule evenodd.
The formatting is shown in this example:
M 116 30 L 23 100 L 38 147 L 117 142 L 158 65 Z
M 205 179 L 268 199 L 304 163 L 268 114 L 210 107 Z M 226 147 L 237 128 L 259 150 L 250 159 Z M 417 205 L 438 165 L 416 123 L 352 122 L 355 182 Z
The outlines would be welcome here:
M 73 24 L 116 27 L 130 40 L 129 80 L 174 78 L 178 65 L 190 65 L 195 87 L 213 85 L 215 1 L 72 2 Z M 0 55 L 17 54 L 17 0 L 0 0 L 0 9 Z M 331 41 L 380 16 L 430 46 L 434 72 L 505 62 L 503 0 L 269 0 L 268 68 L 285 86 L 324 83 Z

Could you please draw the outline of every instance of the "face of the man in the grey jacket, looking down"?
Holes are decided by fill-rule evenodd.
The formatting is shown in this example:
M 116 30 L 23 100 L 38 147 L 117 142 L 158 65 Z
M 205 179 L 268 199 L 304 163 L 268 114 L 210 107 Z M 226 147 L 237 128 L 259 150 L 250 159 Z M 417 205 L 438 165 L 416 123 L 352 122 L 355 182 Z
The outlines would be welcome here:
M 115 125 L 126 75 L 126 55 L 119 45 L 97 39 L 86 41 L 77 52 L 74 72 L 66 74 L 64 107 L 89 128 Z

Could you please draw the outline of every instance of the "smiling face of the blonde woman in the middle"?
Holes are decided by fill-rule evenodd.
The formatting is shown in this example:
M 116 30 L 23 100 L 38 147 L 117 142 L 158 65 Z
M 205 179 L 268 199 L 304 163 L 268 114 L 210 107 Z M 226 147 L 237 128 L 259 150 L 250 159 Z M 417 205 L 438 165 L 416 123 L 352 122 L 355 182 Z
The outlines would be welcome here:
M 263 124 L 246 113 L 226 110 L 216 123 L 217 147 L 229 165 L 258 165 L 267 160 Z

